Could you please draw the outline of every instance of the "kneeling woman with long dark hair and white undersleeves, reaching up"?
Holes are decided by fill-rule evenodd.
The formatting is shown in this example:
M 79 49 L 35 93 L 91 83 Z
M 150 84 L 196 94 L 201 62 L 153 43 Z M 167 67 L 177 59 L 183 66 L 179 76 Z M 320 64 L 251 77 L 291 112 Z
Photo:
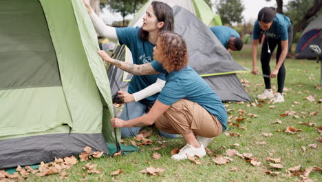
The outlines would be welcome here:
M 114 28 L 105 25 L 89 6 L 87 0 L 83 0 L 83 2 L 96 32 L 109 39 L 118 39 L 121 45 L 127 45 L 127 48 L 131 50 L 134 64 L 151 63 L 153 61 L 153 47 L 158 39 L 158 33 L 161 30 L 173 32 L 174 29 L 173 10 L 166 3 L 153 1 L 143 17 L 143 25 L 140 28 Z M 127 111 L 122 110 L 120 119 L 127 119 L 127 114 L 129 119 L 142 116 L 155 102 L 158 92 L 164 86 L 164 80 L 164 74 L 134 75 L 129 83 L 128 92 L 118 91 L 118 96 L 127 104 L 128 108 Z M 122 138 L 138 134 L 141 128 L 122 128 Z M 162 131 L 160 131 L 160 134 L 169 138 L 178 136 Z

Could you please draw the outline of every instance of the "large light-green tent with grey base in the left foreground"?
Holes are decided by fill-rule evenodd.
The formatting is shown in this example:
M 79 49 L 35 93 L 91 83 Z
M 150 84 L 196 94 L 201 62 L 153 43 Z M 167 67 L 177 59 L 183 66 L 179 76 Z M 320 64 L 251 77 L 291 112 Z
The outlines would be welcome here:
M 111 91 L 83 1 L 1 1 L 0 27 L 0 168 L 108 154 Z

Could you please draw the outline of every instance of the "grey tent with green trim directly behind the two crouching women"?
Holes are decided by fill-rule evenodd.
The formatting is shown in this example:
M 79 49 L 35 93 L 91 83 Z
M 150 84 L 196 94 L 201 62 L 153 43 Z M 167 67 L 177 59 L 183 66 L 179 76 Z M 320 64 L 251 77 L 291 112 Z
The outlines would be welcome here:
M 169 4 L 174 3 L 173 1 L 169 2 Z M 191 1 L 184 2 L 191 3 Z M 183 3 L 182 6 L 189 8 L 190 6 L 187 6 L 186 3 Z M 236 76 L 237 72 L 246 72 L 246 70 L 233 60 L 211 30 L 191 13 L 193 11 L 186 10 L 182 6 L 180 4 L 180 6 L 173 7 L 175 32 L 186 39 L 189 65 L 204 78 L 222 101 L 251 101 Z M 142 12 L 145 12 L 145 9 Z M 138 14 L 138 17 L 142 17 L 142 14 Z M 135 20 L 140 20 L 142 23 L 142 18 L 138 19 L 138 17 Z M 131 23 L 131 26 L 142 25 L 134 22 Z M 131 62 L 131 52 L 126 51 L 123 47 L 125 45 L 115 50 L 114 59 Z M 131 79 L 131 74 L 114 67 L 109 69 L 108 74 L 111 80 L 111 92 L 114 96 L 117 95 L 118 88 L 127 90 L 128 82 L 126 81 Z

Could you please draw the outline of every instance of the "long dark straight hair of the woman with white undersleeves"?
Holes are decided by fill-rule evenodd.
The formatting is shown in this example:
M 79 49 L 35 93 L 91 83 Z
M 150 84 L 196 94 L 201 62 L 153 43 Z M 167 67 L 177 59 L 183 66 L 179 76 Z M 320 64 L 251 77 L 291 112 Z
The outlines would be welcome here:
M 158 22 L 163 21 L 164 26 L 160 28 L 160 31 L 162 30 L 168 30 L 173 32 L 174 30 L 174 19 L 173 19 L 173 10 L 172 8 L 167 5 L 167 3 L 162 3 L 160 1 L 153 1 L 151 3 L 151 6 L 153 8 L 153 12 L 155 14 L 155 17 L 157 18 Z M 149 40 L 149 32 L 145 31 L 140 28 L 139 37 L 142 39 L 142 41 L 148 41 Z

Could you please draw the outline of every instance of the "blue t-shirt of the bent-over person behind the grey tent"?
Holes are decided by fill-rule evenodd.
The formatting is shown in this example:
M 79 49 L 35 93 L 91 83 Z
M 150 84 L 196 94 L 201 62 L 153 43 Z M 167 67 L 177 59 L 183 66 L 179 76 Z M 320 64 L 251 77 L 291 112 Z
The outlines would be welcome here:
M 225 48 L 228 48 L 228 41 L 230 37 L 240 37 L 236 30 L 228 26 L 213 26 L 210 29 L 213 32 L 213 34 L 215 34 L 217 39 L 219 39 L 222 45 L 224 45 Z

